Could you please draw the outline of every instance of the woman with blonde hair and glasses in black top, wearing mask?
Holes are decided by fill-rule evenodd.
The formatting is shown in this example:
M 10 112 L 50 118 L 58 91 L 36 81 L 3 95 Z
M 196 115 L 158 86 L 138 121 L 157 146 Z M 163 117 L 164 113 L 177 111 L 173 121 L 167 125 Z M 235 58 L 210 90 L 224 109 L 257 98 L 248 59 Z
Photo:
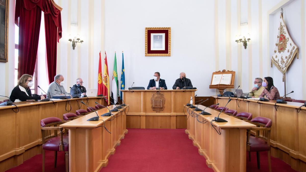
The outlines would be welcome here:
M 18 82 L 17 86 L 12 90 L 11 96 L 9 97 L 12 102 L 23 102 L 26 100 L 41 100 L 45 97 L 41 96 L 32 96 L 31 87 L 34 85 L 32 80 L 32 75 L 23 74 Z

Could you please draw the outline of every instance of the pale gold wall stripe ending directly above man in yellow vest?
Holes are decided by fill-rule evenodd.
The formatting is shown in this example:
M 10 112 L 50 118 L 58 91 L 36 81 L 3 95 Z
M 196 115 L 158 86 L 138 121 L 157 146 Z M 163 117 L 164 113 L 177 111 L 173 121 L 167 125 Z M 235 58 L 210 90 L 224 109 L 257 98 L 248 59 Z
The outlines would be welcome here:
M 259 77 L 263 78 L 263 21 L 262 2 L 258 0 L 258 47 L 259 47 Z

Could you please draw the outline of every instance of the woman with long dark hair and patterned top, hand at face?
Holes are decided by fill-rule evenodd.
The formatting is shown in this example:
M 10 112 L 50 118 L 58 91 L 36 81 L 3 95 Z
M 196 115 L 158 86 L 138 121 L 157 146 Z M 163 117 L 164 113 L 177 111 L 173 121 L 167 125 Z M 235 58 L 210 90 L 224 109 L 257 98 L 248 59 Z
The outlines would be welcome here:
M 262 86 L 265 88 L 263 89 L 263 92 L 261 93 L 261 95 L 259 95 L 260 98 L 263 98 L 265 96 L 266 98 L 270 100 L 279 99 L 279 92 L 278 92 L 278 89 L 274 87 L 272 77 L 265 77 L 263 79 Z

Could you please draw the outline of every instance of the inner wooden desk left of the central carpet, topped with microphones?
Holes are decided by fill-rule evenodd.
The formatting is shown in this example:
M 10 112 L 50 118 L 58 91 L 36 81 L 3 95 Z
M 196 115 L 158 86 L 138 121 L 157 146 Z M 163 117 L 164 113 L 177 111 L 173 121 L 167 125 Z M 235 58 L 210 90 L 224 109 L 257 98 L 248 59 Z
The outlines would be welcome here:
M 110 109 L 114 107 L 114 105 L 109 106 Z M 106 108 L 97 111 L 99 116 L 107 112 Z M 115 148 L 120 145 L 120 140 L 128 132 L 123 109 L 112 114 L 117 117 L 100 116 L 101 121 L 87 121 L 96 116 L 93 112 L 60 125 L 69 129 L 69 171 L 100 171 L 107 165 L 109 156 L 114 154 Z M 104 125 L 111 134 L 101 125 Z

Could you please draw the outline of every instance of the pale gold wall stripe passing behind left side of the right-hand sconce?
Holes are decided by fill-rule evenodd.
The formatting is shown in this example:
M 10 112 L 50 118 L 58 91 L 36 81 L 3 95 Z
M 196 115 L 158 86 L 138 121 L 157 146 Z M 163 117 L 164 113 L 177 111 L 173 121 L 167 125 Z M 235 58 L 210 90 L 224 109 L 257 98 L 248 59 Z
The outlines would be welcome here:
M 240 23 L 241 23 L 241 0 L 237 0 L 237 34 L 241 34 L 241 26 L 240 26 Z M 240 44 L 237 44 L 237 50 L 238 50 L 238 53 L 237 53 L 237 56 L 238 56 L 238 59 L 237 59 L 237 67 L 238 67 L 238 85 L 241 85 L 242 86 L 242 65 L 241 65 L 241 45 Z

